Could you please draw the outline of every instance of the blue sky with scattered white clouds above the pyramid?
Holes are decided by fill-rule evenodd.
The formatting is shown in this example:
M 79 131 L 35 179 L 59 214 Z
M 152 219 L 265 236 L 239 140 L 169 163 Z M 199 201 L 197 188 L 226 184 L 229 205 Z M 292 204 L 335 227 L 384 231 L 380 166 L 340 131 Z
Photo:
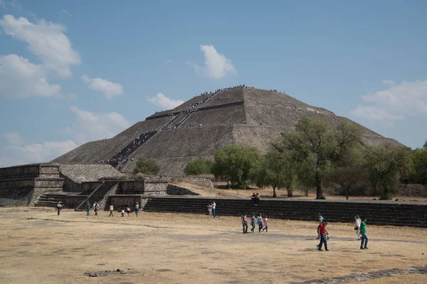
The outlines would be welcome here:
M 236 84 L 421 147 L 426 14 L 427 1 L 0 0 L 0 166 Z

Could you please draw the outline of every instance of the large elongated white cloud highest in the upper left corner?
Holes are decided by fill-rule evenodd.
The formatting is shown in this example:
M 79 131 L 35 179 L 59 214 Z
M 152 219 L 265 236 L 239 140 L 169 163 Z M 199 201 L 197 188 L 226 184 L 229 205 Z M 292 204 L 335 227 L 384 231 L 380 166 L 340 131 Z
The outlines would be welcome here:
M 69 77 L 70 66 L 80 63 L 80 55 L 71 48 L 70 40 L 64 34 L 65 26 L 43 19 L 31 23 L 27 18 L 12 15 L 4 15 L 0 26 L 6 35 L 28 43 L 28 49 L 38 55 L 44 67 L 60 77 Z

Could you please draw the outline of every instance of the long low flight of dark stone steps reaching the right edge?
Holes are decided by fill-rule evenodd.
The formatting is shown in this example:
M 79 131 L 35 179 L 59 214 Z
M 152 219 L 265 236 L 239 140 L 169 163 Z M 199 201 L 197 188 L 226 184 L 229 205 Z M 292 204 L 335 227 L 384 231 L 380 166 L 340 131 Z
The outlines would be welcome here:
M 144 211 L 207 214 L 210 201 L 205 197 L 150 197 Z M 219 216 L 239 217 L 242 213 L 261 212 L 273 219 L 315 221 L 317 213 L 322 213 L 330 222 L 354 222 L 354 215 L 359 215 L 366 216 L 369 224 L 427 228 L 426 204 L 260 200 L 258 205 L 254 205 L 251 200 L 243 199 L 215 201 Z

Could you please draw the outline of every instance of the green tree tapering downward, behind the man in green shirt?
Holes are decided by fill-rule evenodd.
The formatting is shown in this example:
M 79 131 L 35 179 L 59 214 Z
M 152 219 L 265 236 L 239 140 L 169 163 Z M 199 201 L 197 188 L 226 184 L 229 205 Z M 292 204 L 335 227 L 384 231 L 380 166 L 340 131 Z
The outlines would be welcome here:
M 411 149 L 385 143 L 371 146 L 365 153 L 370 180 L 379 190 L 380 198 L 389 200 L 399 185 L 399 180 L 411 170 Z

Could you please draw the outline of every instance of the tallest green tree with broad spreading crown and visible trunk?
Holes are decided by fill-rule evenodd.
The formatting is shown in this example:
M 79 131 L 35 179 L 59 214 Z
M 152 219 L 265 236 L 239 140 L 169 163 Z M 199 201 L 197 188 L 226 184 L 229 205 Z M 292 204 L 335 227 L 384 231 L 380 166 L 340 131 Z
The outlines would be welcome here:
M 362 127 L 358 124 L 342 120 L 333 127 L 325 119 L 306 116 L 298 121 L 295 132 L 285 131 L 273 147 L 280 153 L 289 153 L 293 164 L 305 165 L 313 173 L 316 199 L 325 199 L 325 175 L 349 148 L 357 145 L 360 136 Z

